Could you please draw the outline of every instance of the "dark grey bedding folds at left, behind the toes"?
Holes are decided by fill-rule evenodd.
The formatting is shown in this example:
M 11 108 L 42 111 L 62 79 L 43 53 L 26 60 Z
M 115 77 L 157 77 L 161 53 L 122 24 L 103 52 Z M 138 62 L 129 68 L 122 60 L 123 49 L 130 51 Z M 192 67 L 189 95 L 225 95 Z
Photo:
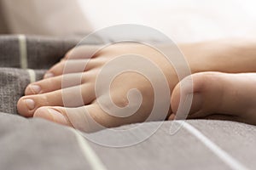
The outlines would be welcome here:
M 25 39 L 24 39 L 25 38 Z M 21 69 L 20 36 L 0 37 L 0 111 L 17 114 L 16 103 L 32 80 L 27 69 L 35 69 L 35 80 L 59 61 L 78 41 L 47 37 L 24 37 L 26 68 Z

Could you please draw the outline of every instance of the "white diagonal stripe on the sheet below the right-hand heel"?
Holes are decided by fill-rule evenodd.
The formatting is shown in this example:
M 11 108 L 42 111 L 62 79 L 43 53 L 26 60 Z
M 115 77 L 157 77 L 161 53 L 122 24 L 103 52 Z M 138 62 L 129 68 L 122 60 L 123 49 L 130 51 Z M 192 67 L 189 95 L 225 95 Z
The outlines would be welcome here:
M 197 130 L 195 127 L 191 126 L 189 123 L 184 121 L 177 122 L 180 125 L 182 125 L 185 129 L 187 129 L 189 133 L 195 135 L 195 137 L 199 139 L 201 143 L 205 144 L 207 148 L 212 150 L 212 152 L 216 156 L 218 156 L 222 161 L 224 161 L 224 163 L 226 163 L 231 169 L 248 170 L 248 168 L 242 165 L 241 162 L 237 161 L 235 158 L 230 156 L 226 151 L 222 150 L 220 147 L 218 147 L 217 144 L 214 144 L 210 139 L 207 139 L 207 137 L 199 130 Z

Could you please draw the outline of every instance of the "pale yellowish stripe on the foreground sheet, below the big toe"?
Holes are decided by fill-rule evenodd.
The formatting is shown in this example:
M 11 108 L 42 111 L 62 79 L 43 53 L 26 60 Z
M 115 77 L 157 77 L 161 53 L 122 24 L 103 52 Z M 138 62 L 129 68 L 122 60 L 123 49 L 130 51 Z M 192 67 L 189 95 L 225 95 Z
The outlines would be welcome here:
M 90 163 L 90 167 L 93 170 L 107 170 L 100 158 L 96 155 L 95 151 L 91 149 L 90 144 L 88 144 L 86 139 L 84 139 L 82 134 L 73 128 L 69 129 L 75 134 L 79 143 L 79 147 L 81 148 L 86 160 Z

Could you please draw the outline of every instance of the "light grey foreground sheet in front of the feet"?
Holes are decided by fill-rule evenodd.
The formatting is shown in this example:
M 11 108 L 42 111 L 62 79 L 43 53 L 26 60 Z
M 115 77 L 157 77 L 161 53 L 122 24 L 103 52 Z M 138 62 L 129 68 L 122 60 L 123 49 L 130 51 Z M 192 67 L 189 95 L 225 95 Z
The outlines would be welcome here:
M 150 128 L 154 123 L 146 124 Z M 207 120 L 187 123 L 197 127 L 247 169 L 256 166 L 255 127 L 238 122 Z M 171 122 L 165 122 L 153 136 L 130 147 L 110 148 L 90 141 L 87 143 L 102 167 L 109 170 L 234 169 L 187 129 L 182 128 L 170 135 L 170 126 Z M 91 135 L 100 136 L 105 141 L 112 140 L 104 131 Z M 120 140 L 134 138 L 134 135 L 128 134 Z M 1 113 L 0 144 L 0 169 L 97 169 L 83 155 L 83 148 L 69 128 L 42 119 L 25 119 Z

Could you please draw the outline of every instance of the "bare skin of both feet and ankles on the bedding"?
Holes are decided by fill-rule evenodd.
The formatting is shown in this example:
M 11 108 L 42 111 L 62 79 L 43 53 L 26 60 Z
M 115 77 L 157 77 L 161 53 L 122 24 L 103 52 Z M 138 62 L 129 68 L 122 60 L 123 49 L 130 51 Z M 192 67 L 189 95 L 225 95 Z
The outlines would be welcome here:
M 254 42 L 218 40 L 180 44 L 178 47 L 183 52 L 193 73 L 194 91 L 187 92 L 195 96 L 189 111 L 189 118 L 227 119 L 255 124 L 256 108 L 254 109 L 253 105 L 256 104 L 256 99 L 253 99 L 253 96 L 256 94 L 256 88 L 253 84 L 256 81 L 256 73 L 251 73 L 256 72 Z M 174 68 L 172 65 L 166 65 L 166 59 L 162 54 L 142 44 L 115 44 L 94 54 L 83 71 L 76 70 L 79 65 L 84 65 L 83 60 L 86 60 L 91 48 L 94 47 L 74 48 L 67 53 L 64 59 L 47 71 L 43 80 L 28 85 L 25 96 L 18 101 L 17 108 L 20 115 L 42 117 L 85 132 L 94 132 L 102 127 L 144 122 L 154 104 L 154 91 L 150 82 L 137 72 L 128 71 L 120 74 L 110 86 L 113 103 L 119 107 L 128 105 L 126 95 L 129 89 L 137 88 L 141 92 L 142 105 L 132 116 L 111 116 L 102 110 L 96 99 L 95 81 L 102 67 L 114 57 L 127 53 L 143 55 L 160 67 L 172 92 L 172 107 L 166 118 L 172 120 L 177 115 L 177 106 L 181 97 L 180 83 Z M 72 67 L 74 69 L 63 72 L 67 63 L 75 65 Z M 63 77 L 70 80 L 70 83 L 61 90 Z M 73 81 L 76 77 L 82 77 L 82 83 Z M 64 107 L 63 94 L 70 94 L 70 99 L 75 99 L 74 91 L 77 89 L 81 89 L 83 103 L 70 102 L 71 105 Z M 111 111 L 111 105 L 109 107 Z M 70 117 L 70 114 L 73 117 Z M 102 127 L 90 126 L 90 122 L 86 119 L 88 116 Z

